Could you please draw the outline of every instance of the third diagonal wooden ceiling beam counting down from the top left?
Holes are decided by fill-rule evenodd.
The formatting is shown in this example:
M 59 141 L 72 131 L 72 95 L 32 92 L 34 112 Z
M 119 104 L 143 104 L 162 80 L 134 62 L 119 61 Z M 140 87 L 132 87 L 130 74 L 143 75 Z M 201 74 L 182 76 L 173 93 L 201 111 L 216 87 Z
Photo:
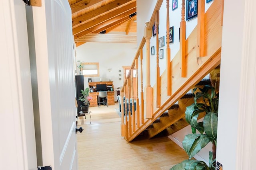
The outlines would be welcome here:
M 109 20 L 109 19 L 119 16 L 123 13 L 126 13 L 126 11 L 128 11 L 128 10 L 130 11 L 130 9 L 134 9 L 134 8 L 136 9 L 136 2 L 128 4 L 127 6 L 124 6 L 124 7 L 120 8 L 118 10 L 115 10 L 113 12 L 110 12 L 110 13 L 98 18 L 97 20 L 92 20 L 86 24 L 83 24 L 79 27 L 74 28 L 73 35 L 78 34 L 86 29 L 89 29 L 90 27 L 93 27 L 94 25 L 98 25 L 106 20 Z

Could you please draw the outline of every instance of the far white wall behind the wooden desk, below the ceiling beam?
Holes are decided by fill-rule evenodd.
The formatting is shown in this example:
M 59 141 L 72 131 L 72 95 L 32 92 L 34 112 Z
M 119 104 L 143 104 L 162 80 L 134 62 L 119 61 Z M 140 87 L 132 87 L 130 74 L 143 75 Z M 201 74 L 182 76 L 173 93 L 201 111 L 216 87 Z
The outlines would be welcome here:
M 131 43 L 85 43 L 76 47 L 76 60 L 94 63 L 98 62 L 100 67 L 99 77 L 90 77 L 92 82 L 113 81 L 114 90 L 123 86 L 124 70 L 122 66 L 130 66 L 137 51 L 136 44 Z M 108 72 L 108 68 L 112 68 Z M 118 72 L 122 70 L 122 72 Z M 120 77 L 119 74 L 122 74 Z M 89 78 L 89 77 L 88 77 Z M 84 78 L 84 86 L 88 86 L 88 78 Z M 118 80 L 122 78 L 122 80 Z

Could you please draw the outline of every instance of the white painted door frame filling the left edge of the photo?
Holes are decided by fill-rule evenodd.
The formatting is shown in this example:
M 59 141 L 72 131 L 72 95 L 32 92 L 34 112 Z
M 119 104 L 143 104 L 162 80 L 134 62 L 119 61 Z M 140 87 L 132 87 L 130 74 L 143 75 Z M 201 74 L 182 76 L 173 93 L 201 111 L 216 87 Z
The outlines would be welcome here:
M 36 170 L 25 4 L 0 0 L 0 169 Z

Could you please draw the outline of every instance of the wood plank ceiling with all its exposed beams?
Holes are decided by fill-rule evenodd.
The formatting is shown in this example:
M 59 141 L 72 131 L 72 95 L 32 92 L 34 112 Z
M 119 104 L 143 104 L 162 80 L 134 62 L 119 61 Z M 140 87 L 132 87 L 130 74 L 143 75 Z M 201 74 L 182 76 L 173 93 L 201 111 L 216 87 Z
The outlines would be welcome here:
M 136 0 L 68 0 L 76 47 L 86 42 L 136 43 Z

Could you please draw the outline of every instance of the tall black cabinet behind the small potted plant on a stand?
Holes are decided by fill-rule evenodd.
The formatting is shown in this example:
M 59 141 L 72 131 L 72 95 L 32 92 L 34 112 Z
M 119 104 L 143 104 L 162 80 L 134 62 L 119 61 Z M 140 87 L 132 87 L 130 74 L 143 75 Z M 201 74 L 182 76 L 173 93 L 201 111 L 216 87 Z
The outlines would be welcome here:
M 84 90 L 84 76 L 77 75 L 76 76 L 76 101 L 77 101 L 78 107 L 77 107 L 76 111 L 77 111 L 78 116 L 82 116 L 82 115 L 80 115 L 79 112 L 82 111 L 80 106 L 84 104 L 84 102 L 78 100 L 79 97 L 82 96 L 81 89 Z

